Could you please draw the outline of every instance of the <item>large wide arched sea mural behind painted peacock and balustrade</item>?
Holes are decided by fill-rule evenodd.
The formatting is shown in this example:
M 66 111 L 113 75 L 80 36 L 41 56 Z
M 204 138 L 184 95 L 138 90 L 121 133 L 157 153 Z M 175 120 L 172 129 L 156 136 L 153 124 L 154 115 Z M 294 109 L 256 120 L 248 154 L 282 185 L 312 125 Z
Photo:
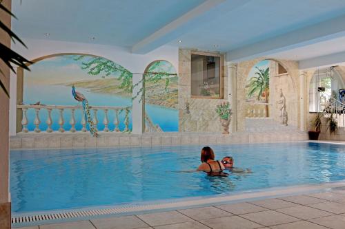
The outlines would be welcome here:
M 26 105 L 40 102 L 43 105 L 77 105 L 71 96 L 71 86 L 75 85 L 90 105 L 131 107 L 132 106 L 132 73 L 121 65 L 114 63 L 101 56 L 90 54 L 52 54 L 36 58 L 30 64 L 30 72 L 18 70 L 17 77 L 19 90 L 17 98 L 19 103 Z M 25 77 L 24 77 L 25 74 Z M 20 89 L 21 88 L 21 89 Z M 28 129 L 34 129 L 32 118 L 34 114 L 28 111 Z M 81 111 L 76 111 L 75 117 L 81 118 Z M 17 112 L 18 113 L 18 112 Z M 20 114 L 20 113 L 18 113 Z M 41 120 L 46 120 L 48 114 L 40 111 Z M 70 120 L 70 114 L 64 113 L 65 120 Z M 109 112 L 108 118 L 114 120 L 115 113 Z M 103 112 L 97 113 L 100 122 L 98 129 L 103 129 Z M 124 113 L 119 116 L 124 118 Z M 52 111 L 52 129 L 57 130 L 57 111 Z M 21 120 L 17 116 L 17 124 Z M 30 122 L 31 121 L 31 122 Z M 20 124 L 20 122 L 19 122 Z M 41 122 L 40 129 L 45 130 L 45 122 Z M 69 122 L 65 122 L 64 129 L 70 129 Z M 80 120 L 75 125 L 80 130 Z M 114 124 L 109 122 L 109 129 L 113 129 Z M 120 122 L 120 130 L 124 129 L 123 122 Z M 131 118 L 130 118 L 131 128 Z M 17 125 L 18 130 L 18 125 Z

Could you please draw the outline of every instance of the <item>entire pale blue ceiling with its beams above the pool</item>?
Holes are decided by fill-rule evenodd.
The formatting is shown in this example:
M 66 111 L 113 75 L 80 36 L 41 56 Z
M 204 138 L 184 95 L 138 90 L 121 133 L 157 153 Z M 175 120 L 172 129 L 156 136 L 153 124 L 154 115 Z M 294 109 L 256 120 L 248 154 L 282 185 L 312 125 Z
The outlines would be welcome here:
M 232 53 L 342 17 L 345 1 L 12 0 L 12 11 L 19 19 L 12 21 L 12 28 L 21 37 L 126 47 L 144 43 L 148 51 L 168 44 Z M 276 48 L 268 56 L 304 60 L 345 51 L 345 32 L 337 32 L 298 47 Z

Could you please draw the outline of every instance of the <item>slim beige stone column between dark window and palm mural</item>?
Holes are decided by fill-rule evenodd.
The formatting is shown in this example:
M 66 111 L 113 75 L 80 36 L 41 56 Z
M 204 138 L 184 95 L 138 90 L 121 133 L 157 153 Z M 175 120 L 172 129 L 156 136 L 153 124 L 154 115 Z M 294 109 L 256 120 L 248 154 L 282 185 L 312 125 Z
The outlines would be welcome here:
M 237 131 L 237 63 L 228 63 L 228 100 L 233 110 L 233 117 L 231 118 L 230 132 Z

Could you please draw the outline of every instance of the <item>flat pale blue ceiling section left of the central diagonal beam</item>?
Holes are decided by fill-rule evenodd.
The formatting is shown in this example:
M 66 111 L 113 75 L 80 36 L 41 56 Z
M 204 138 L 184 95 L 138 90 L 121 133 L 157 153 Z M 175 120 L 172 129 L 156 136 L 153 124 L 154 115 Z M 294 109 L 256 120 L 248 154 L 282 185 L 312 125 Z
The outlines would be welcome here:
M 21 37 L 132 46 L 204 0 L 12 0 Z M 50 36 L 45 36 L 50 33 Z

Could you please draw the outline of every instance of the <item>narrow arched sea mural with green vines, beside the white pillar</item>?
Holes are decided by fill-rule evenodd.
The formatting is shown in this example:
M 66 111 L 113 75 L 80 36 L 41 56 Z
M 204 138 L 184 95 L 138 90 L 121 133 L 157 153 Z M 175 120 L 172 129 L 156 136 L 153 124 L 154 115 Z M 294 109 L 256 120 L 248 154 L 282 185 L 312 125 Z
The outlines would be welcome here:
M 179 131 L 177 105 L 178 78 L 175 67 L 168 61 L 152 62 L 145 74 L 145 110 L 148 117 L 162 131 Z

